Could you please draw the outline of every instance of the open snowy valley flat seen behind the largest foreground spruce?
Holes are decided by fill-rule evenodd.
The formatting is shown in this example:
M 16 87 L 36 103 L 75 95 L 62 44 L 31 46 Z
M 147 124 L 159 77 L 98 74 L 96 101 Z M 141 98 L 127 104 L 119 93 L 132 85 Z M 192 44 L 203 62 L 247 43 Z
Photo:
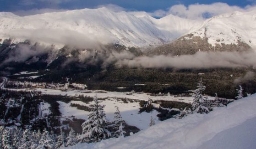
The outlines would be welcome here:
M 89 112 L 84 110 L 78 110 L 76 107 L 71 107 L 70 103 L 76 103 L 80 105 L 85 105 L 89 107 L 92 103 L 83 103 L 81 101 L 71 101 L 70 103 L 64 103 L 61 101 L 58 101 L 60 104 L 60 113 L 62 113 L 62 116 L 64 117 L 71 117 L 75 116 L 75 118 L 82 118 L 87 119 L 87 115 Z M 133 103 L 123 103 L 120 100 L 117 99 L 106 99 L 103 100 L 101 105 L 105 105 L 104 111 L 106 112 L 106 117 L 108 120 L 113 121 L 114 120 L 114 112 L 116 111 L 115 106 L 119 107 L 120 113 L 122 118 L 125 120 L 125 122 L 128 125 L 136 126 L 139 129 L 145 129 L 148 128 L 150 118 L 151 116 L 154 118 L 155 122 L 158 123 L 158 112 L 156 110 L 153 110 L 151 113 L 139 113 L 139 103 L 133 102 Z

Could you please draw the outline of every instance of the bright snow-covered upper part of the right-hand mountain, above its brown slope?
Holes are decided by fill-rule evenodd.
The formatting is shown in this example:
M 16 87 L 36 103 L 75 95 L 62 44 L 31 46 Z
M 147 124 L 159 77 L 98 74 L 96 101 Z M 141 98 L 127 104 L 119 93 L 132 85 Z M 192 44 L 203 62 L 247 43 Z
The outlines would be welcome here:
M 198 29 L 191 31 L 191 34 L 201 38 L 207 37 L 212 46 L 222 43 L 237 45 L 241 41 L 255 47 L 256 10 L 214 16 L 204 21 Z

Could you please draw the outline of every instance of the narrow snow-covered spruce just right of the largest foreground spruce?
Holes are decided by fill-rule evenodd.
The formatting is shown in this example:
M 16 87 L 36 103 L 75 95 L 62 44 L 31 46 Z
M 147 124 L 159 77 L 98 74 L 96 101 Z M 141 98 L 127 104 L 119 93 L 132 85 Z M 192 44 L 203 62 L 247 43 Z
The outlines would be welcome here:
M 119 108 L 116 106 L 116 111 L 114 113 L 114 137 L 125 137 L 126 132 L 124 131 L 124 123 L 125 121 L 122 119 Z

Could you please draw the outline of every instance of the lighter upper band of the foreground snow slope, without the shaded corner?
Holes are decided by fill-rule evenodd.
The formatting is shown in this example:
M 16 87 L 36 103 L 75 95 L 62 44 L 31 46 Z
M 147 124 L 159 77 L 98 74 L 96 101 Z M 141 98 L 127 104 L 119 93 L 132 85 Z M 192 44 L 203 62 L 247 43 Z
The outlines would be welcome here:
M 256 94 L 253 94 L 208 114 L 171 118 L 125 139 L 77 144 L 71 149 L 196 149 L 218 133 L 256 118 L 255 106 Z

